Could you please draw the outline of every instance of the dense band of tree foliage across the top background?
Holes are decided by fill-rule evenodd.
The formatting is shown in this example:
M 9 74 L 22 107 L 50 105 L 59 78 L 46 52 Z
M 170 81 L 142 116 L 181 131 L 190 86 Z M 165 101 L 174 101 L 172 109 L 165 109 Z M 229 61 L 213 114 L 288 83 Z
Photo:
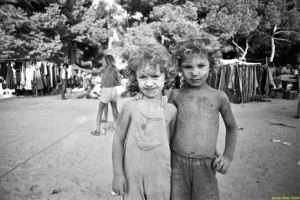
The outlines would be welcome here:
M 220 48 L 224 57 L 296 63 L 299 33 L 296 0 L 0 2 L 0 59 L 63 60 L 69 47 L 83 51 L 86 60 L 107 50 L 127 58 L 143 43 L 170 46 L 205 35 L 211 40 L 207 48 Z

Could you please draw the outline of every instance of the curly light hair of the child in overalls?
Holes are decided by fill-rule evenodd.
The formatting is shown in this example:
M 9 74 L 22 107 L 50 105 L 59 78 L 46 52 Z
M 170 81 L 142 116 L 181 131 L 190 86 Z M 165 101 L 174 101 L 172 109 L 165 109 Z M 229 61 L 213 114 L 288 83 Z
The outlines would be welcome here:
M 165 85 L 170 84 L 177 75 L 177 68 L 167 48 L 161 44 L 147 44 L 131 53 L 126 67 L 126 75 L 130 81 L 128 90 L 139 91 L 136 72 L 141 67 L 150 64 L 160 66 L 160 71 L 165 73 Z

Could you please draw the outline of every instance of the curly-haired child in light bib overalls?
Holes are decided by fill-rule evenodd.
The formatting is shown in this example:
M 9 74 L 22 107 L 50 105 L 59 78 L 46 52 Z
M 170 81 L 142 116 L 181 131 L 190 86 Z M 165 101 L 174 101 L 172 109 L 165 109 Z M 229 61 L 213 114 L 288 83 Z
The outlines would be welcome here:
M 157 44 L 134 52 L 127 71 L 142 98 L 121 110 L 112 146 L 113 192 L 130 200 L 169 200 L 176 108 L 163 101 L 162 91 L 176 68 L 168 50 Z

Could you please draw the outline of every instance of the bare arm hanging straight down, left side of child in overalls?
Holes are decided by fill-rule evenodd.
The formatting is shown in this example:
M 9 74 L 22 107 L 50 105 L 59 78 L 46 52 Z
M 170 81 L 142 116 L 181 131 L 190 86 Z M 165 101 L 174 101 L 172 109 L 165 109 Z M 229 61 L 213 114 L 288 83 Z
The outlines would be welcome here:
M 130 104 L 126 102 L 122 109 L 118 119 L 116 132 L 114 134 L 112 144 L 112 162 L 113 162 L 113 192 L 118 195 L 124 195 L 126 191 L 126 179 L 124 175 L 124 143 L 126 140 L 127 129 L 130 123 Z

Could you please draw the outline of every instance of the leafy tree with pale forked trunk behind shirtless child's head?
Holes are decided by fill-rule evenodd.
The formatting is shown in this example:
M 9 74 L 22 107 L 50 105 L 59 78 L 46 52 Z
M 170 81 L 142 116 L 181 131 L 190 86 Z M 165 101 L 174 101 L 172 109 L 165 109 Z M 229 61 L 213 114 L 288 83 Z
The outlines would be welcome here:
M 205 30 L 220 37 L 223 52 L 232 49 L 228 41 L 241 52 L 240 59 L 245 59 L 251 33 L 256 30 L 260 17 L 256 12 L 257 1 L 221 0 L 197 1 L 201 23 Z M 201 18 L 202 17 L 202 18 Z M 239 44 L 244 42 L 244 48 Z

